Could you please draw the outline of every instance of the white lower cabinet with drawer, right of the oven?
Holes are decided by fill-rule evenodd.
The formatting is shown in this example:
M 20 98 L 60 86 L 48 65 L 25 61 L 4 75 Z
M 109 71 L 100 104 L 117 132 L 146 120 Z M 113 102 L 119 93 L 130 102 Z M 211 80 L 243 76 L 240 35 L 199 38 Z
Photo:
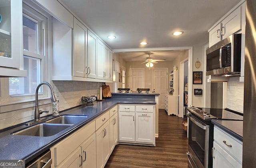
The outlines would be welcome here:
M 213 168 L 242 168 L 242 142 L 214 126 Z

